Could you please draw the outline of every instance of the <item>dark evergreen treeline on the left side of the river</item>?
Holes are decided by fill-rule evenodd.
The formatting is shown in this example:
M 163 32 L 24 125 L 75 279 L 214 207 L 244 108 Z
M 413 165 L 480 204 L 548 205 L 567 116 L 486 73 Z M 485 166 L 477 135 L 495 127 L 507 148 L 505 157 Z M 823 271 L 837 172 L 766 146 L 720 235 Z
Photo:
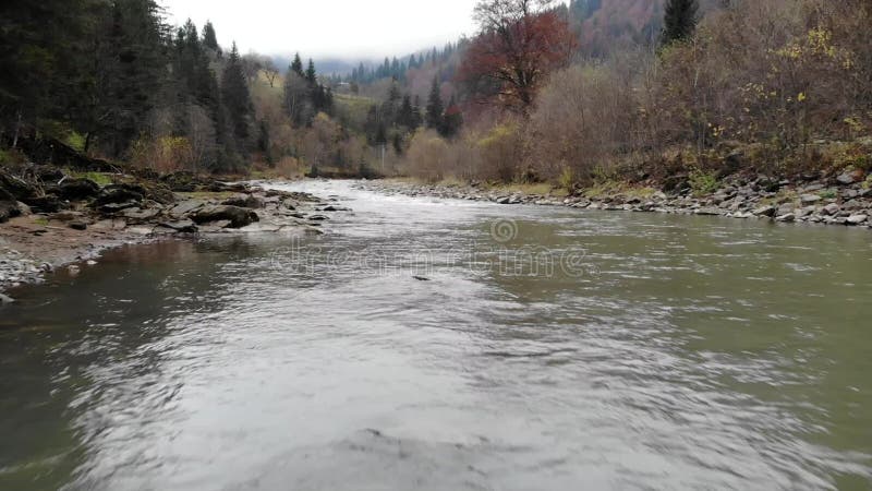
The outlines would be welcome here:
M 332 113 L 311 60 L 282 77 L 268 58 L 219 46 L 210 23 L 168 25 L 154 0 L 9 1 L 0 13 L 5 148 L 53 139 L 160 171 L 244 172 L 301 157 L 317 115 Z M 271 107 L 252 93 L 264 81 L 280 94 Z M 299 134 L 277 147 L 286 121 Z

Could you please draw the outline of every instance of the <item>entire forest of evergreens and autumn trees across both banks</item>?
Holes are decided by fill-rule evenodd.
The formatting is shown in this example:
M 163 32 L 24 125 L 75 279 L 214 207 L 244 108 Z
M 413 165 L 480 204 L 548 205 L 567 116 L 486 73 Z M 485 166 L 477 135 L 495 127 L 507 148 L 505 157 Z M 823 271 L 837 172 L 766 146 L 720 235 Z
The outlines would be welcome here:
M 3 163 L 48 141 L 159 172 L 567 190 L 872 167 L 869 0 L 481 0 L 470 37 L 324 74 L 154 0 L 0 10 Z

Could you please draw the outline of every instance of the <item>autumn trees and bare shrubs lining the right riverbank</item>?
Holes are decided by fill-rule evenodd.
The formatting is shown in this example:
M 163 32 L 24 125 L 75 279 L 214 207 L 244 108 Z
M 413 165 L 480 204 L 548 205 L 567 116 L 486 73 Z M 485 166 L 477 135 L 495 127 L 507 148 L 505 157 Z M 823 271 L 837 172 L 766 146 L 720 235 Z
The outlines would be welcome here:
M 653 41 L 598 57 L 580 56 L 579 14 L 542 3 L 479 2 L 457 77 L 464 125 L 415 133 L 400 173 L 573 187 L 872 167 L 867 0 L 667 0 Z M 590 20 L 618 3 L 569 9 Z

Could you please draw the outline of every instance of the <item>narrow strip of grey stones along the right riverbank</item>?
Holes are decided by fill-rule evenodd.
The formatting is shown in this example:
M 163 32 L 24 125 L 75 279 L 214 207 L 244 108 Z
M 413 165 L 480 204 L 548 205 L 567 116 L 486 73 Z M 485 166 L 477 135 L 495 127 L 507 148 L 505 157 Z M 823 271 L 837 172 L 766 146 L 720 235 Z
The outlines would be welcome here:
M 872 228 L 872 190 L 864 176 L 844 172 L 833 178 L 802 181 L 775 180 L 764 176 L 731 177 L 706 195 L 695 195 L 685 185 L 666 193 L 652 188 L 595 189 L 571 195 L 529 194 L 473 184 L 422 184 L 405 181 L 365 181 L 362 189 L 411 196 L 489 201 L 498 204 L 535 204 L 685 215 L 766 219 Z

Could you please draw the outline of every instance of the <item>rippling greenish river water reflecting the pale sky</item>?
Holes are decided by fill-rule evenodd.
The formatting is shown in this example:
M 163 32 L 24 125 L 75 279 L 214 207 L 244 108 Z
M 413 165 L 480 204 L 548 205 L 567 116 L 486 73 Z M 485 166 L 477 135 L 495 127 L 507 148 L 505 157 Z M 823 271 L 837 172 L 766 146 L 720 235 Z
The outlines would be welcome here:
M 327 196 L 0 310 L 0 489 L 872 487 L 872 236 Z

